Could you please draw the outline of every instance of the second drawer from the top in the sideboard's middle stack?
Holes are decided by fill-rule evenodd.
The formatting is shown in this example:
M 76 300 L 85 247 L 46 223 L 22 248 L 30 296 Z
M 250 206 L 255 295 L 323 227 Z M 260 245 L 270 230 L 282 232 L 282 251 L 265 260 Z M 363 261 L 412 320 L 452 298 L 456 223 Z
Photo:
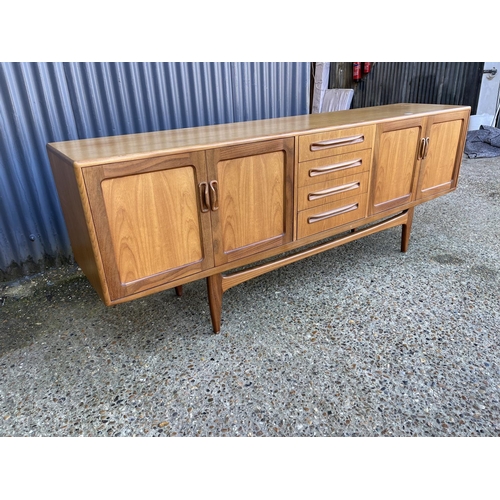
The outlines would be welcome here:
M 329 156 L 299 163 L 298 186 L 340 179 L 370 170 L 372 150 Z

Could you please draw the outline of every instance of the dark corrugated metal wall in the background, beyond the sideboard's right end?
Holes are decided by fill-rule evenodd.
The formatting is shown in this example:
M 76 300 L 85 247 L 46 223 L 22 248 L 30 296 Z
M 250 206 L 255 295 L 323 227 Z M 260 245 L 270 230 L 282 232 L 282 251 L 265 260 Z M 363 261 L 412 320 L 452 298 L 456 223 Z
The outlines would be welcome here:
M 475 114 L 482 62 L 376 62 L 361 82 L 352 79 L 351 62 L 330 63 L 329 88 L 352 88 L 352 108 L 397 102 L 460 104 Z

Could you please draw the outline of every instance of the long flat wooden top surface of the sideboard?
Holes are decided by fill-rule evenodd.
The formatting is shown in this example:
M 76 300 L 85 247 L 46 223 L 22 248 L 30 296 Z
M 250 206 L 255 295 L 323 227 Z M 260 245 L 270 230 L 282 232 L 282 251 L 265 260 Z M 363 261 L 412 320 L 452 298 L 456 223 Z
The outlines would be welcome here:
M 361 123 L 369 124 L 395 118 L 425 116 L 435 112 L 453 112 L 461 109 L 468 109 L 468 107 L 437 104 L 389 104 L 332 113 L 56 142 L 48 144 L 47 147 L 53 153 L 69 160 L 76 167 L 87 167 L 256 140 L 304 135 L 337 127 L 356 126 Z

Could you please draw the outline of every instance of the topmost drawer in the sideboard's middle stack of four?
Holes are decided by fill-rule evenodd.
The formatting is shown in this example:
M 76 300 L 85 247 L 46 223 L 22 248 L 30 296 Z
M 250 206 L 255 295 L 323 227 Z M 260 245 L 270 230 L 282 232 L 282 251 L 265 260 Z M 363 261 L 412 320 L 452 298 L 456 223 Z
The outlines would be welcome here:
M 302 135 L 299 137 L 299 161 L 370 149 L 374 137 L 375 125 Z

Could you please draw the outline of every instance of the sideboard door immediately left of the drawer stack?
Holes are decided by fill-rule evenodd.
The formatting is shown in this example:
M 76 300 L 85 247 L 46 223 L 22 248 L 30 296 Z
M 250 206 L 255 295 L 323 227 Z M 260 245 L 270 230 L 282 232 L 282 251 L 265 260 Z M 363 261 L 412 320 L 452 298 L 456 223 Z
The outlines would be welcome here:
M 207 151 L 215 264 L 292 241 L 293 138 Z

